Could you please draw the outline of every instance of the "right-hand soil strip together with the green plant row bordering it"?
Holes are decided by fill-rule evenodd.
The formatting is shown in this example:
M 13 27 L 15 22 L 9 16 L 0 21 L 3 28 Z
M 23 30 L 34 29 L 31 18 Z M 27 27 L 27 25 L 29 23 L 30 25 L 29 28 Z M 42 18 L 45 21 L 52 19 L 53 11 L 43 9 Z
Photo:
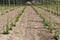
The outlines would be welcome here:
M 59 23 L 60 19 L 56 17 L 55 15 L 50 14 L 49 12 L 33 6 L 33 9 L 37 12 L 37 14 L 43 19 L 43 23 L 46 28 L 49 30 L 50 33 L 52 33 L 55 36 L 55 40 L 60 39 L 60 31 L 59 31 Z

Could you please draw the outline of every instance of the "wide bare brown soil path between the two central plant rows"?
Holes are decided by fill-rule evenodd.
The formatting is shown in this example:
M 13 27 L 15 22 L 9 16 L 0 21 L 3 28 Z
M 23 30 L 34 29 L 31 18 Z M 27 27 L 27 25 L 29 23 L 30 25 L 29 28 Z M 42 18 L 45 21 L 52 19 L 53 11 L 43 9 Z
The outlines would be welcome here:
M 21 18 L 8 36 L 1 40 L 54 40 L 35 11 L 27 6 Z

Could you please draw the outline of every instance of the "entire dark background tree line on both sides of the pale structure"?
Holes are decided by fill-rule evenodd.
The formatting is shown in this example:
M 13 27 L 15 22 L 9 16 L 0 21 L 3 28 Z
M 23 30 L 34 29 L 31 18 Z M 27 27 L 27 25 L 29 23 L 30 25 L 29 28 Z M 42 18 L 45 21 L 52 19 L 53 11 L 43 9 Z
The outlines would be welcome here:
M 25 4 L 27 1 L 29 0 L 0 0 L 0 4 Z M 58 0 L 31 0 L 31 1 L 35 1 L 39 2 L 39 3 L 43 3 L 43 4 L 55 4 Z M 58 1 L 60 3 L 60 1 Z

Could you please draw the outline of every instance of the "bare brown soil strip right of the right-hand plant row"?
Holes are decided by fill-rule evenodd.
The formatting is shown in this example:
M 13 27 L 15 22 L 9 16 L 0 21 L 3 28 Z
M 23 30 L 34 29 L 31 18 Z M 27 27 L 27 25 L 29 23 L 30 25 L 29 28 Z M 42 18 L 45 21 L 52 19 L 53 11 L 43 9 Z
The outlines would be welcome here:
M 60 29 L 60 18 L 56 15 L 53 15 L 41 8 L 37 8 L 37 11 L 41 13 L 51 24 L 54 24 L 54 28 L 59 31 Z

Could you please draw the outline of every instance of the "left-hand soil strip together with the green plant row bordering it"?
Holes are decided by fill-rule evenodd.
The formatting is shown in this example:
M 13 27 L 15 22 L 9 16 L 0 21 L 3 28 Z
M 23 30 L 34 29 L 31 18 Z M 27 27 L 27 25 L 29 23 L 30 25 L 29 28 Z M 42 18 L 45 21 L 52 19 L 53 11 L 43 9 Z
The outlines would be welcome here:
M 12 30 L 12 27 L 16 26 L 16 22 L 22 15 L 21 13 L 24 11 L 24 8 L 24 6 L 21 6 L 3 16 L 0 16 L 0 33 L 8 34 L 9 29 Z

